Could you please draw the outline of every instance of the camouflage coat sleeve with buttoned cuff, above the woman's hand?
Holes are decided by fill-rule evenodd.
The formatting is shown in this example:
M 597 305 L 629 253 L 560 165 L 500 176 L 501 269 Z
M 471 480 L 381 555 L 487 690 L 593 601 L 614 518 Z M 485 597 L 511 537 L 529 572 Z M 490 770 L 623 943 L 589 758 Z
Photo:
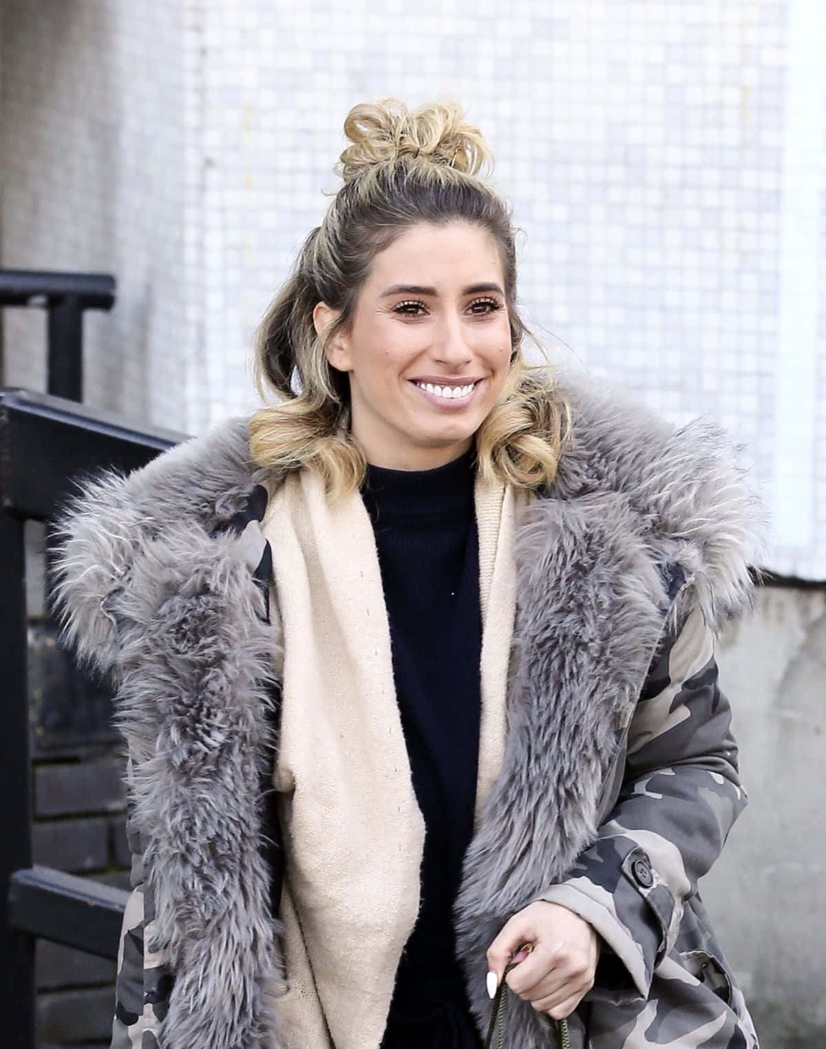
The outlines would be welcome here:
M 712 633 L 695 609 L 649 671 L 613 811 L 570 877 L 541 897 L 594 926 L 610 948 L 600 960 L 600 970 L 611 973 L 607 982 L 630 980 L 648 997 L 654 969 L 674 946 L 684 901 L 745 800 Z

